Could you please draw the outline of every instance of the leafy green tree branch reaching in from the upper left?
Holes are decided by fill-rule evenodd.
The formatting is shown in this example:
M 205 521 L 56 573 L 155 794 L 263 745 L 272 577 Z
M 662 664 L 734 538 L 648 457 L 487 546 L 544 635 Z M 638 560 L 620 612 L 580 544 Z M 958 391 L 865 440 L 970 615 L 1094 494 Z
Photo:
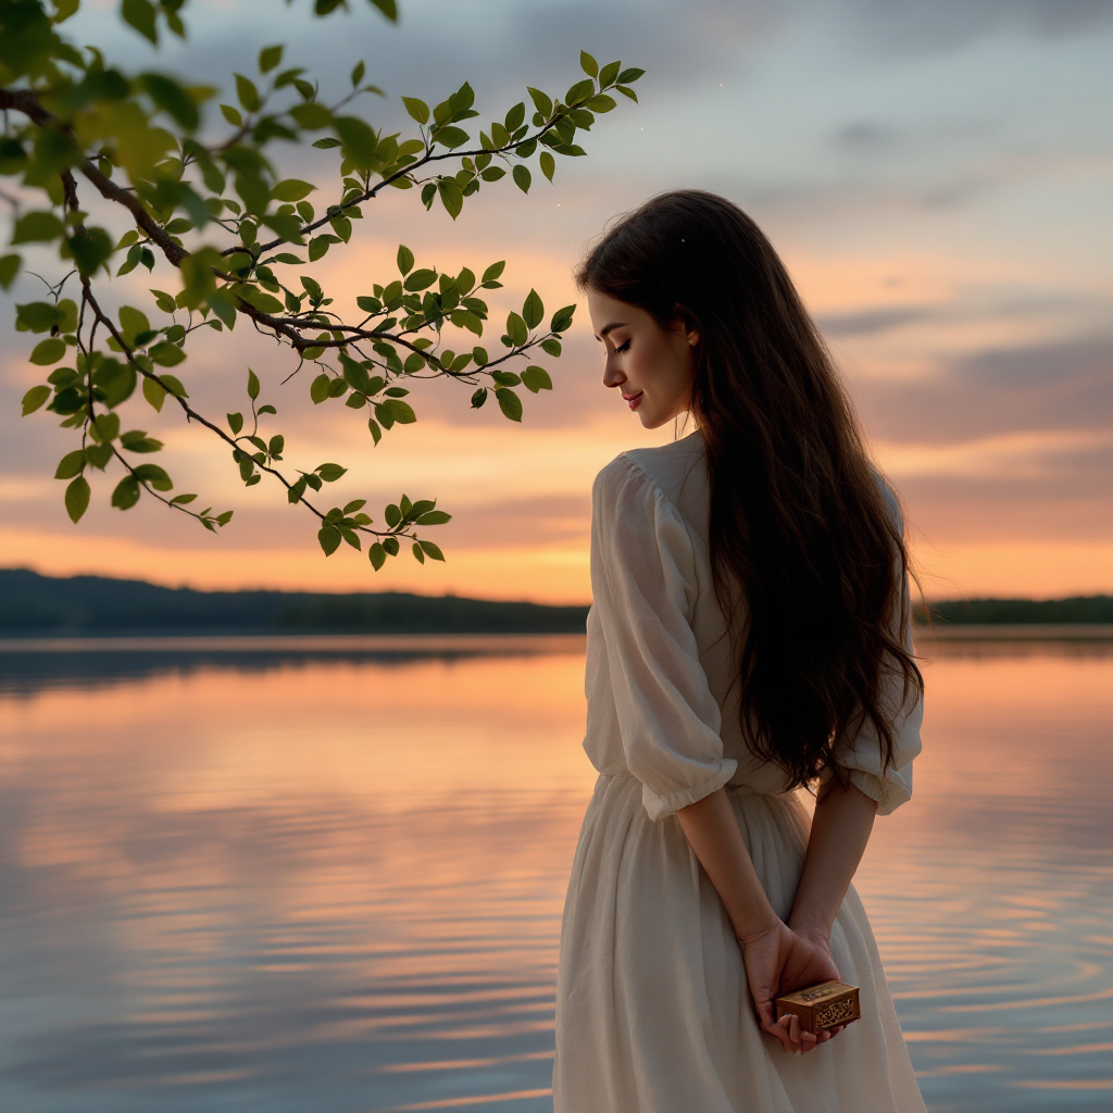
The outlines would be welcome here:
M 392 0 L 373 3 L 395 18 Z M 22 408 L 29 414 L 45 407 L 61 417 L 62 426 L 80 430 L 80 447 L 67 453 L 56 472 L 69 480 L 70 518 L 77 522 L 89 505 L 87 473 L 114 465 L 122 472 L 110 500 L 119 510 L 136 505 L 146 493 L 210 531 L 232 519 L 232 511 L 193 510 L 197 495 L 170 495 L 174 483 L 164 469 L 132 462 L 136 454 L 164 447 L 142 430 L 121 431 L 118 410 L 140 387 L 154 410 L 160 412 L 173 397 L 188 423 L 206 429 L 230 450 L 245 485 L 259 483 L 264 475 L 279 483 L 289 503 L 316 518 L 326 554 L 341 541 L 361 549 L 363 534 L 376 570 L 398 553 L 402 539 L 412 542 L 415 559 L 443 560 L 441 550 L 417 534 L 418 528 L 450 520 L 435 500 L 402 495 L 384 508 L 383 528 L 364 512 L 366 500 L 327 510 L 311 501 L 311 492 L 319 493 L 346 469 L 324 463 L 290 473 L 279 466 L 286 439 L 279 432 L 260 432 L 260 418 L 276 417 L 277 410 L 258 404 L 262 384 L 254 371 L 247 371 L 249 431 L 240 412 L 229 412 L 225 425 L 195 410 L 176 374 L 187 359 L 188 339 L 201 328 L 230 332 L 247 318 L 294 357 L 283 382 L 313 365 L 312 402 L 344 398 L 347 407 L 366 410 L 376 445 L 395 425 L 417 420 L 405 401 L 410 391 L 403 384 L 411 378 L 465 384 L 473 408 L 493 393 L 502 414 L 521 422 L 518 388 L 533 394 L 552 388 L 549 371 L 530 361 L 539 352 L 552 358 L 561 355 L 574 306 L 558 309 L 542 328 L 544 306 L 531 289 L 521 311 L 506 317 L 504 351 L 492 355 L 474 341 L 482 338 L 489 322 L 484 292 L 502 287 L 502 262 L 476 278 L 467 267 L 454 274 L 417 267 L 413 253 L 400 246 L 398 276 L 373 283 L 368 293 L 357 296 L 355 317 L 305 272 L 334 246 L 351 242 L 356 221 L 364 218 L 362 206 L 387 186 L 417 189 L 426 209 L 440 199 L 456 219 L 467 197 L 508 177 L 508 171 L 528 193 L 533 177 L 526 162 L 534 156 L 552 181 L 556 156 L 585 154 L 574 141 L 577 134 L 615 108 L 612 93 L 637 100 L 630 85 L 642 71 L 623 69 L 617 61 L 600 67 L 581 53 L 585 77 L 563 99 L 529 88 L 530 120 L 525 101 L 513 105 L 479 130 L 476 144 L 466 121 L 480 114 L 466 82 L 432 107 L 403 97 L 416 134 L 387 135 L 348 112 L 357 97 L 382 96 L 364 82 L 363 62 L 351 73 L 349 91 L 326 104 L 304 68 L 280 68 L 284 47 L 270 46 L 259 52 L 257 77 L 234 75 L 235 104 L 219 102 L 230 130 L 219 136 L 203 118 L 217 90 L 183 85 L 158 72 L 127 75 L 106 65 L 96 48 L 82 51 L 66 41 L 58 28 L 79 4 L 55 0 L 48 12 L 41 0 L 0 0 L 0 174 L 20 178 L 11 198 L 16 211 L 10 242 L 14 247 L 53 246 L 67 270 L 59 283 L 47 283 L 48 301 L 16 307 L 18 331 L 48 334 L 35 345 L 30 362 L 53 368 L 45 383 L 26 393 Z M 339 6 L 339 0 L 316 0 L 315 10 L 327 17 Z M 185 35 L 184 8 L 184 0 L 124 0 L 120 13 L 157 45 L 164 26 Z M 301 145 L 315 134 L 314 147 L 339 157 L 334 200 L 319 214 L 309 200 L 318 187 L 282 178 L 270 160 L 275 144 Z M 452 173 L 450 160 L 456 166 Z M 78 178 L 108 203 L 110 216 L 124 219 L 122 230 L 119 225 L 110 229 L 90 223 Z M 35 197 L 39 207 L 29 208 Z M 124 260 L 117 265 L 120 253 Z M 114 319 L 95 290 L 102 276 L 112 277 L 114 267 L 115 276 L 122 277 L 140 266 L 152 276 L 158 268 L 160 286 L 169 287 L 150 290 L 152 312 L 167 318 L 155 326 L 147 312 L 129 305 Z M 19 253 L 0 257 L 0 285 L 10 287 L 21 267 Z M 80 306 L 61 296 L 75 272 Z M 473 339 L 446 341 L 446 328 L 470 333 Z M 525 361 L 525 366 L 516 361 Z

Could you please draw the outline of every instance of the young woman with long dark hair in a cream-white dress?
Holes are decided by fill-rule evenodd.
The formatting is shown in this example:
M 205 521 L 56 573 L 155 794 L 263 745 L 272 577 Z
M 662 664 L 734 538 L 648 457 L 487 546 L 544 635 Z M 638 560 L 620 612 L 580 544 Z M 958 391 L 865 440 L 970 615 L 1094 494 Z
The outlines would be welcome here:
M 561 934 L 555 1111 L 923 1113 L 850 887 L 920 748 L 896 499 L 737 206 L 653 198 L 577 277 L 604 384 L 647 429 L 697 429 L 593 486 L 599 780 Z M 830 978 L 860 988 L 860 1021 L 778 1022 L 779 993 Z

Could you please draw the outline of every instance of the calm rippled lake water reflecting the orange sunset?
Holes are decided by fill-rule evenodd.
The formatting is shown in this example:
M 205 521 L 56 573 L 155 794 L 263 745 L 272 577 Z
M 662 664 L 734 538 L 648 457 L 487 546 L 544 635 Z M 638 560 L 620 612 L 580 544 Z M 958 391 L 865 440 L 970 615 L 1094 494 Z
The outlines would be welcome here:
M 582 639 L 0 653 L 0 1110 L 540 1113 Z M 1113 647 L 937 647 L 858 888 L 933 1113 L 1113 1110 Z

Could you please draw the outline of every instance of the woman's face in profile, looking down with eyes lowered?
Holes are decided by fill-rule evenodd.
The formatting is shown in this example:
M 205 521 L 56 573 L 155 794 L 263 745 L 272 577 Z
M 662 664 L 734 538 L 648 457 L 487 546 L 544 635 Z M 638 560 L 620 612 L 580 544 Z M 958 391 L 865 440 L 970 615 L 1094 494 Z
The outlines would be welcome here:
M 595 339 L 607 349 L 603 385 L 618 387 L 646 429 L 687 412 L 696 374 L 699 335 L 683 322 L 662 327 L 634 305 L 588 290 Z

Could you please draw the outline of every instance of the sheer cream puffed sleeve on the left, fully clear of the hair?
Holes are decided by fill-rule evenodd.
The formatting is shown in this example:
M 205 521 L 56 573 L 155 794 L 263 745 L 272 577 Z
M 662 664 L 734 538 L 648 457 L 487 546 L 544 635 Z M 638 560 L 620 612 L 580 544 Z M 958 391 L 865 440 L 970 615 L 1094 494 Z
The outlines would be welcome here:
M 627 766 L 651 819 L 701 800 L 735 775 L 691 617 L 688 529 L 660 487 L 619 456 L 592 487 L 591 585 Z

